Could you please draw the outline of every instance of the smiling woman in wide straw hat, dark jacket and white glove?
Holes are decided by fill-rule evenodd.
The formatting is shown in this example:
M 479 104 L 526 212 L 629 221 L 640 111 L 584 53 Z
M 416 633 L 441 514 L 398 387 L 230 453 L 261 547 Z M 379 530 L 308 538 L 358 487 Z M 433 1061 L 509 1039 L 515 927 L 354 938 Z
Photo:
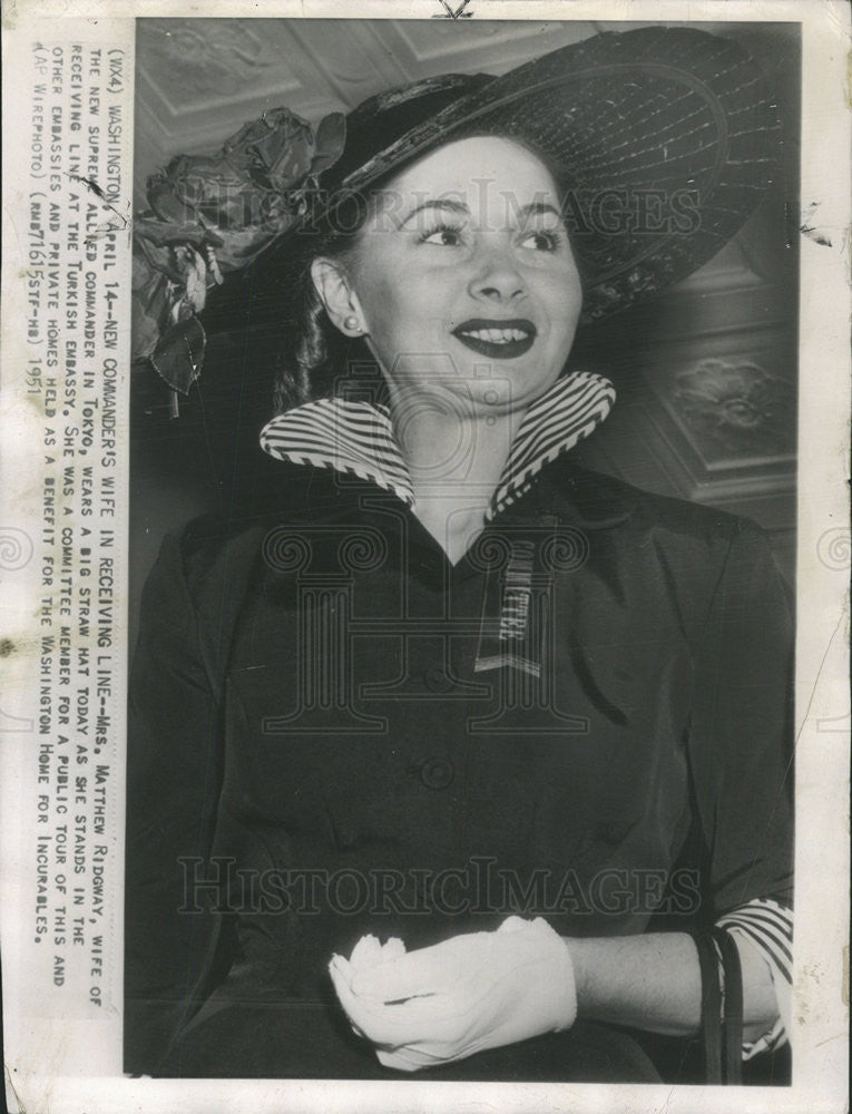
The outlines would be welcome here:
M 146 589 L 129 1066 L 652 1081 L 625 1029 L 712 1068 L 723 1013 L 733 1082 L 783 1039 L 786 594 L 751 524 L 580 469 L 614 391 L 564 374 L 733 234 L 771 117 L 659 29 L 352 115 L 249 272 L 303 311 L 262 501 Z

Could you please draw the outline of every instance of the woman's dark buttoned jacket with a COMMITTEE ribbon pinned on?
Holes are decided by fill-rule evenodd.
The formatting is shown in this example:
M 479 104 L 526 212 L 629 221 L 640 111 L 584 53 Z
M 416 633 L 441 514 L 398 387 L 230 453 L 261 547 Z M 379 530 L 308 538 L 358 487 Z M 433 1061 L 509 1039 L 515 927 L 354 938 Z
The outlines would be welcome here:
M 494 661 L 512 624 L 526 665 Z M 791 671 L 746 520 L 568 457 L 453 567 L 393 496 L 276 462 L 262 508 L 168 537 L 144 595 L 128 1069 L 358 1074 L 326 965 L 365 931 L 790 905 Z

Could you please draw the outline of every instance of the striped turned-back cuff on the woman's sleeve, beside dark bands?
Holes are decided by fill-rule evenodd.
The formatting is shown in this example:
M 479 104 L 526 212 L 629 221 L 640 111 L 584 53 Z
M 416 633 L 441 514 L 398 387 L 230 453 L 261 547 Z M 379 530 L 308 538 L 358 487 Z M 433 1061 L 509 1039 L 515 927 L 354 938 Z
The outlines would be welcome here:
M 793 911 L 777 901 L 758 898 L 732 909 L 716 924 L 726 928 L 738 947 L 752 948 L 768 965 L 778 1017 L 757 1040 L 743 1045 L 743 1059 L 776 1048 L 787 1040 L 793 968 Z

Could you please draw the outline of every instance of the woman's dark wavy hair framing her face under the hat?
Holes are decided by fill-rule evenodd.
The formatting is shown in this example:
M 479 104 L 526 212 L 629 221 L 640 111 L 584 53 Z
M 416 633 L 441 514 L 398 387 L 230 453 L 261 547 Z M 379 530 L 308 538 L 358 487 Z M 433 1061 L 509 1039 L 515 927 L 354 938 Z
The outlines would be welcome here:
M 451 140 L 482 137 L 483 133 L 453 136 Z M 574 183 L 570 174 L 547 152 L 509 133 L 487 133 L 488 138 L 508 139 L 526 148 L 545 166 L 554 179 L 560 204 Z M 425 157 L 425 156 L 424 156 Z M 404 168 L 408 169 L 408 164 Z M 359 397 L 369 391 L 373 401 L 386 401 L 386 391 L 379 365 L 362 338 L 344 336 L 331 322 L 311 277 L 314 260 L 326 257 L 351 266 L 358 251 L 359 233 L 379 195 L 392 187 L 403 167 L 373 183 L 359 194 L 349 195 L 335 206 L 332 217 L 324 217 L 298 237 L 300 243 L 288 256 L 291 281 L 295 285 L 288 296 L 290 328 L 281 330 L 281 344 L 275 360 L 273 401 L 282 413 L 313 399 L 327 398 L 345 391 L 358 371 Z

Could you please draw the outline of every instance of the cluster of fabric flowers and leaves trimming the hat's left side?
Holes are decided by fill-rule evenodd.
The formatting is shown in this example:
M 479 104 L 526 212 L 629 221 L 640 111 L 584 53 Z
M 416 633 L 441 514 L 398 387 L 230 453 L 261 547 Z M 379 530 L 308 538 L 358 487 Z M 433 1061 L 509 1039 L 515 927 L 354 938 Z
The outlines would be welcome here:
M 276 108 L 212 155 L 178 155 L 148 178 L 149 209 L 134 223 L 134 360 L 149 360 L 173 391 L 200 374 L 196 316 L 207 291 L 247 266 L 305 212 L 317 175 L 340 158 L 346 124 L 317 128 Z

